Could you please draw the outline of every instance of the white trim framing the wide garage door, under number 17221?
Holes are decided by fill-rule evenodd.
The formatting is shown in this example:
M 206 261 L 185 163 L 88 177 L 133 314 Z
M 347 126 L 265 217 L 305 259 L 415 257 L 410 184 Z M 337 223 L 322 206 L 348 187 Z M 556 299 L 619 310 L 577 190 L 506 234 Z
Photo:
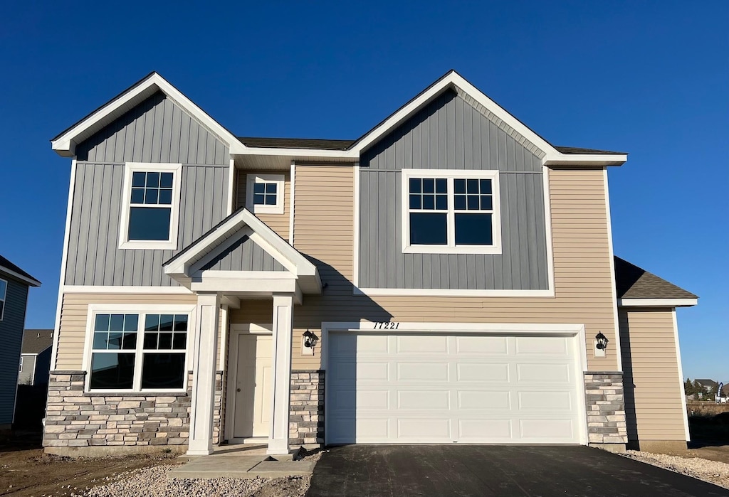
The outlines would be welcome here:
M 459 322 L 395 322 L 397 328 L 383 329 L 381 322 L 371 321 L 351 321 L 337 322 L 324 321 L 321 322 L 321 369 L 327 370 L 327 362 L 329 357 L 329 333 L 332 331 L 353 331 L 358 333 L 381 333 L 384 335 L 390 333 L 433 333 L 433 334 L 462 334 L 479 333 L 482 335 L 494 333 L 507 333 L 512 335 L 552 335 L 552 336 L 572 336 L 577 340 L 577 372 L 581 373 L 577 378 L 577 393 L 580 401 L 577 410 L 582 416 L 583 422 L 580 423 L 580 444 L 588 445 L 588 422 L 587 422 L 587 405 L 585 399 L 585 372 L 588 371 L 588 354 L 587 345 L 585 343 L 585 325 L 584 324 L 534 324 L 534 323 L 459 323 Z M 326 424 L 329 417 L 329 375 L 324 375 L 324 423 Z M 328 431 L 324 430 L 324 445 L 329 443 Z

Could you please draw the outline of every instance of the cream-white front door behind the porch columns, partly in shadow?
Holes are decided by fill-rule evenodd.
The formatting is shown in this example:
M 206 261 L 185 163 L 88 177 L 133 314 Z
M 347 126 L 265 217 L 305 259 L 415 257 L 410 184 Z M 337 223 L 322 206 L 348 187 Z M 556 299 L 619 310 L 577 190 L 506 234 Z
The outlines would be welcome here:
M 271 417 L 271 336 L 238 335 L 233 437 L 268 437 Z

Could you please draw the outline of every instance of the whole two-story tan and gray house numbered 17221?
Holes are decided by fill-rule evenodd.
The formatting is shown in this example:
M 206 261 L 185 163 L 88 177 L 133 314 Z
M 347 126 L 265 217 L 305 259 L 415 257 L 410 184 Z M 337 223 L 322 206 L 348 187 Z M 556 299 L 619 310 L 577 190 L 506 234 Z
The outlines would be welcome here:
M 47 452 L 685 448 L 697 299 L 613 258 L 627 155 L 555 147 L 458 73 L 356 140 L 236 138 L 151 73 L 52 148 Z

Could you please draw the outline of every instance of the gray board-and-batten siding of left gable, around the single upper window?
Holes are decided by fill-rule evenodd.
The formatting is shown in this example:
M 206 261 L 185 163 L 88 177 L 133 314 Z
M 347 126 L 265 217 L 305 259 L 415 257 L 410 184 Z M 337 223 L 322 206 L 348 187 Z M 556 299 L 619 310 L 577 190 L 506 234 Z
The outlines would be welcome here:
M 177 250 L 120 250 L 125 162 L 180 163 Z M 65 285 L 179 286 L 162 264 L 227 215 L 230 153 L 157 92 L 77 146 Z

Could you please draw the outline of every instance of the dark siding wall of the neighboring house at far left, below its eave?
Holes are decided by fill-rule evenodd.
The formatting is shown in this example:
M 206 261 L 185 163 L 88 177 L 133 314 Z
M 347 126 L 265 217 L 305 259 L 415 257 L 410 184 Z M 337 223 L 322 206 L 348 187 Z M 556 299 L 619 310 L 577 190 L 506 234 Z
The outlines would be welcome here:
M 26 322 L 28 284 L 4 274 L 7 281 L 3 319 L 0 321 L 0 426 L 12 423 L 17 389 L 17 370 L 20 365 L 20 346 L 23 343 L 23 326 Z

